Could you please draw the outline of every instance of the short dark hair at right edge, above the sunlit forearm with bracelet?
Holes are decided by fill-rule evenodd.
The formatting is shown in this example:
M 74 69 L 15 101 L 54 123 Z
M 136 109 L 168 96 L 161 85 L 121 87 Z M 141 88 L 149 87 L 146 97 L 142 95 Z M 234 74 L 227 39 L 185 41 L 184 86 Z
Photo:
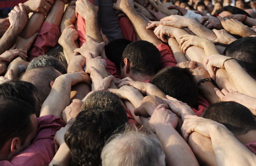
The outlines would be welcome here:
M 224 55 L 233 57 L 250 74 L 256 76 L 256 37 L 243 37 L 230 43 Z

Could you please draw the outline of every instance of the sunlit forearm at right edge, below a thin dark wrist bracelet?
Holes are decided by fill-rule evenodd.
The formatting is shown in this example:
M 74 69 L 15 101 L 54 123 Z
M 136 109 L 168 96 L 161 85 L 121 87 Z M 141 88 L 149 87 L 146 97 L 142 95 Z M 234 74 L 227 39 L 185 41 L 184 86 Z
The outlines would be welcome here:
M 225 69 L 238 92 L 256 97 L 256 81 L 234 59 L 225 62 Z

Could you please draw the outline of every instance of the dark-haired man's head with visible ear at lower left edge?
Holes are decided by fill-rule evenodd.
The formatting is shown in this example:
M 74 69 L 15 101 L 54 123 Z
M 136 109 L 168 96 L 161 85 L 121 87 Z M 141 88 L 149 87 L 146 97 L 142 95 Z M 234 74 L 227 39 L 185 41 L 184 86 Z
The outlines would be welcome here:
M 33 112 L 23 100 L 0 96 L 0 161 L 10 160 L 29 146 L 38 125 Z

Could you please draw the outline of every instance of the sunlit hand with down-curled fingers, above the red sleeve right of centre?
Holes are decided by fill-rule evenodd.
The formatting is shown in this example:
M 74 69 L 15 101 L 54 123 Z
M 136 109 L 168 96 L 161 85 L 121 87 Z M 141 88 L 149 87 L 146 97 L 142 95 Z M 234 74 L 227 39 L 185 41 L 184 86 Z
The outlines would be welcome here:
M 168 42 L 165 38 L 165 35 L 169 37 L 174 37 L 175 29 L 175 27 L 158 25 L 158 27 L 155 28 L 154 33 L 155 36 L 158 37 L 158 39 L 162 40 L 163 42 Z

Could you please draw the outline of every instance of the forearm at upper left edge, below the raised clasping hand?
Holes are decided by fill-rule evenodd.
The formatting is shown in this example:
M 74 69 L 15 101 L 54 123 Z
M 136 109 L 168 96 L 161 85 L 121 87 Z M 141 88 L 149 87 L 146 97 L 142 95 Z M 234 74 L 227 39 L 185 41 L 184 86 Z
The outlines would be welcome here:
M 0 54 L 4 53 L 6 50 L 11 48 L 11 46 L 14 44 L 14 41 L 16 37 L 19 35 L 19 33 L 22 31 L 22 29 L 18 29 L 16 27 L 10 26 L 5 34 L 0 39 Z

